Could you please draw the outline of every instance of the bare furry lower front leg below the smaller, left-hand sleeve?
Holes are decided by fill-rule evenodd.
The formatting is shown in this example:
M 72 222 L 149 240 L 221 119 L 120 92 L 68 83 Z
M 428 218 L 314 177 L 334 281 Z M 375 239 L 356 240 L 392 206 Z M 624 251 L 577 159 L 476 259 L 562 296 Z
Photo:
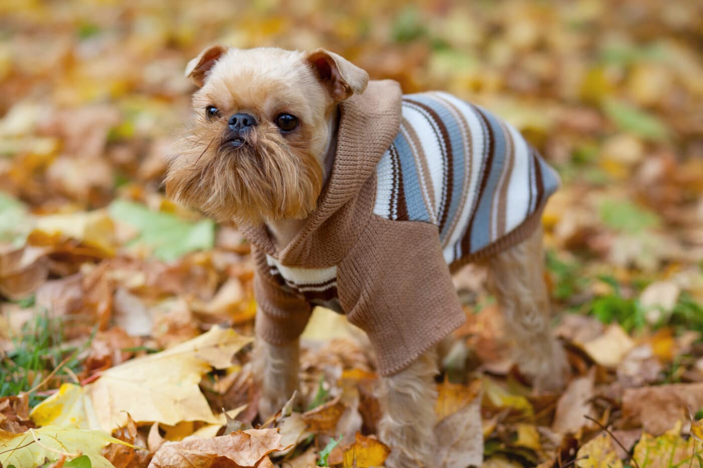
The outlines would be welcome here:
M 258 339 L 254 352 L 254 375 L 259 381 L 259 415 L 263 420 L 283 408 L 298 388 L 300 343 L 270 344 Z

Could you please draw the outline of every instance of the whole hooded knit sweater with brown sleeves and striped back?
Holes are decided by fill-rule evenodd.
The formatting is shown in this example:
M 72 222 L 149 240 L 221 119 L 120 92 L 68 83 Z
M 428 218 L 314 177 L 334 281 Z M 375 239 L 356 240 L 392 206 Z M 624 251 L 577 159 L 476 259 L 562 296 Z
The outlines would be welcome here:
M 392 375 L 461 325 L 450 272 L 519 243 L 558 178 L 507 122 L 446 93 L 370 82 L 340 104 L 330 179 L 302 231 L 254 244 L 257 334 L 285 344 L 314 305 L 367 332 Z

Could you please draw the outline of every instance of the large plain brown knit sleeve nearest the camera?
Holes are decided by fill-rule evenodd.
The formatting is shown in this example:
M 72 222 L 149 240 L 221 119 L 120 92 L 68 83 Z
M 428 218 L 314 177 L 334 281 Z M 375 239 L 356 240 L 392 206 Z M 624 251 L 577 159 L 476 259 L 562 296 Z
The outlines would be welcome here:
M 406 368 L 464 323 L 437 226 L 371 216 L 340 264 L 340 302 L 364 330 L 381 375 Z

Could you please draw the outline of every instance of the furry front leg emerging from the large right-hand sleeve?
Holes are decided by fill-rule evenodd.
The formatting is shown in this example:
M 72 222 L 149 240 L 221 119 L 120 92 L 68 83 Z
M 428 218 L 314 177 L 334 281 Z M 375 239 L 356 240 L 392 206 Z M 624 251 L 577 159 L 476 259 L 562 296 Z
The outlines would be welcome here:
M 382 377 L 379 400 L 381 441 L 392 449 L 387 468 L 432 467 L 434 403 L 437 401 L 437 351 L 432 349 L 406 369 Z

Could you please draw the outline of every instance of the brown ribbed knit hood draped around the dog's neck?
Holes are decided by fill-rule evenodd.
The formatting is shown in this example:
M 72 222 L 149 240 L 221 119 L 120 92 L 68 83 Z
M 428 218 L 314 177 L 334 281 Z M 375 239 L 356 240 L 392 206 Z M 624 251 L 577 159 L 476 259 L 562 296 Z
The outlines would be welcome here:
M 340 103 L 333 169 L 318 198 L 318 207 L 305 227 L 280 250 L 265 226 L 239 226 L 245 237 L 283 264 L 307 267 L 337 264 L 346 253 L 342 246 L 351 245 L 345 241 L 353 241 L 362 227 L 350 224 L 370 215 L 370 202 L 359 200 L 359 195 L 362 187 L 372 181 L 376 165 L 398 134 L 400 119 L 401 89 L 392 80 L 369 82 L 363 94 Z

